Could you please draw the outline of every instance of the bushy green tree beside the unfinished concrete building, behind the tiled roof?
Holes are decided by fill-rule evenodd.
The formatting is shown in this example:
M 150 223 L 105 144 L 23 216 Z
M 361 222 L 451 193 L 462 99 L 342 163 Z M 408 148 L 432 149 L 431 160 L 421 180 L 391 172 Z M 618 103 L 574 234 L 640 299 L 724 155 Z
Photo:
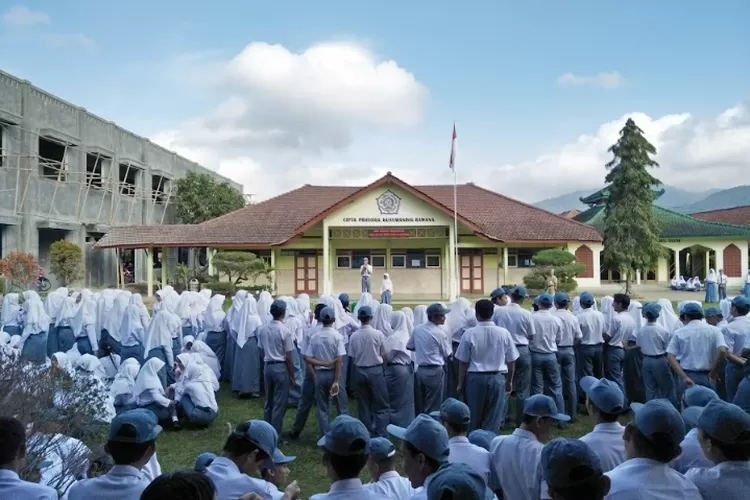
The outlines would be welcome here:
M 188 172 L 177 180 L 174 195 L 179 224 L 200 224 L 245 206 L 245 197 L 208 174 Z

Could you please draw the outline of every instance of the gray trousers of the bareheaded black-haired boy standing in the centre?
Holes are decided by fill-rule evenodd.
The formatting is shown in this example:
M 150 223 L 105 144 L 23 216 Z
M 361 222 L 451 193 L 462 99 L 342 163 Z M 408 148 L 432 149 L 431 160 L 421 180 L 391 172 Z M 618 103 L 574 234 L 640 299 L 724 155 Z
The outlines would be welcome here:
M 505 374 L 469 372 L 466 374 L 466 404 L 471 410 L 470 429 L 497 433 L 505 415 Z

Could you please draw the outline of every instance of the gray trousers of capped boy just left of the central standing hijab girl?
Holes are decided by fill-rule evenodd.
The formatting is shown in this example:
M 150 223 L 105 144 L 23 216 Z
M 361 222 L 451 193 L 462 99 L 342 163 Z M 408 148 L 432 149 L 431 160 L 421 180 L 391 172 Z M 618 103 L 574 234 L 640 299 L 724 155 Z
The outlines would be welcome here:
M 388 386 L 383 365 L 354 367 L 354 397 L 359 419 L 373 436 L 387 436 L 390 421 Z

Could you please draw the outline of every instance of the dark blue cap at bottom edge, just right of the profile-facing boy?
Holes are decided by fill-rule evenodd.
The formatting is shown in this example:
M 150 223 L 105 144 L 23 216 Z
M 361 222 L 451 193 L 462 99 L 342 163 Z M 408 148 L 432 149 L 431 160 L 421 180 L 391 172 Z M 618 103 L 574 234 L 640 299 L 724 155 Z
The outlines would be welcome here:
M 556 438 L 547 443 L 541 466 L 550 488 L 571 488 L 603 474 L 599 457 L 579 439 Z

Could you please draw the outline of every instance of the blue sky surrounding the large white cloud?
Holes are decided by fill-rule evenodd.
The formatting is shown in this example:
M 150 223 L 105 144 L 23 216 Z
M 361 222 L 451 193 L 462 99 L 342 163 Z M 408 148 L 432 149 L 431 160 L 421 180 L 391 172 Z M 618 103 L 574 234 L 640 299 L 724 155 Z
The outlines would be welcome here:
M 396 61 L 430 98 L 407 133 L 355 134 L 337 158 L 354 161 L 369 149 L 387 164 L 383 150 L 395 148 L 437 161 L 447 157 L 455 120 L 459 165 L 476 169 L 556 152 L 627 113 L 711 119 L 749 97 L 746 0 L 357 4 L 19 0 L 49 22 L 0 24 L 0 69 L 153 136 L 209 114 L 224 97 L 176 71 L 181 58 L 229 60 L 251 42 L 298 53 L 353 41 Z M 606 72 L 623 84 L 558 82 Z M 465 180 L 475 177 L 467 170 Z

